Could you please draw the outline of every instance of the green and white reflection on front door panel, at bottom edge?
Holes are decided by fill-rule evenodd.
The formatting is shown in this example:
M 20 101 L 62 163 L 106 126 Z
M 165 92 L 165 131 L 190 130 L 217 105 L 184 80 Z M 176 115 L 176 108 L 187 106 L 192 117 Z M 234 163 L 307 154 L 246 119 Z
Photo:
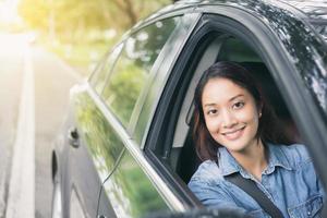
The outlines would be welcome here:
M 124 152 L 121 164 L 104 187 L 118 217 L 146 217 L 155 211 L 169 210 L 160 194 L 128 150 Z M 99 211 L 102 210 L 100 206 Z

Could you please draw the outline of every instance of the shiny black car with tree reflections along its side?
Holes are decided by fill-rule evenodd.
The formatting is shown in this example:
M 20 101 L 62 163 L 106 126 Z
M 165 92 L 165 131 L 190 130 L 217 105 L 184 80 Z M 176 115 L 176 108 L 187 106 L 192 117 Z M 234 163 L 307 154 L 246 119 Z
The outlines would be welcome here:
M 205 211 L 186 185 L 201 162 L 193 94 L 221 60 L 259 80 L 326 187 L 326 37 L 327 1 L 314 0 L 179 1 L 138 23 L 71 89 L 52 155 L 52 217 Z

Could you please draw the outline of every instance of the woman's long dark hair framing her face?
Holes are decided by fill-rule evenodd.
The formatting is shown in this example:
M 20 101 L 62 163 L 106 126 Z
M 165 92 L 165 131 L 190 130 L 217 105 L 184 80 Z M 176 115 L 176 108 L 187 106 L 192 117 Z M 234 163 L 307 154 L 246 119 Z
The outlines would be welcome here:
M 194 93 L 194 128 L 193 137 L 196 143 L 196 153 L 202 160 L 211 159 L 217 160 L 217 149 L 219 145 L 207 130 L 204 112 L 202 108 L 202 95 L 205 85 L 211 78 L 228 78 L 237 85 L 245 88 L 254 98 L 257 108 L 262 109 L 262 117 L 259 119 L 256 138 L 270 143 L 290 144 L 291 141 L 286 135 L 279 119 L 274 110 L 266 101 L 262 88 L 251 73 L 242 65 L 221 61 L 211 65 L 202 75 L 195 93 Z

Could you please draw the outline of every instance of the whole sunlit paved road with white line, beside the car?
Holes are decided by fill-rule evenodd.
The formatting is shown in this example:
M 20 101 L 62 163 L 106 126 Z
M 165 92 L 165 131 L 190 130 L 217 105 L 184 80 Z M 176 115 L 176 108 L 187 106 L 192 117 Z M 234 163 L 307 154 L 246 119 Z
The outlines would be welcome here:
M 50 217 L 52 142 L 81 78 L 23 36 L 0 34 L 0 218 Z

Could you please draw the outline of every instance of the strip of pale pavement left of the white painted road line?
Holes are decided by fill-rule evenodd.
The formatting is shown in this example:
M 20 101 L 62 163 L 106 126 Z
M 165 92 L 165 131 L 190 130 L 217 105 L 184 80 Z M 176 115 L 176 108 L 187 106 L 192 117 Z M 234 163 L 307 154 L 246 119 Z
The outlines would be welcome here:
M 9 45 L 17 37 L 0 35 L 0 217 L 4 217 L 12 147 L 15 141 L 22 87 L 23 45 Z

